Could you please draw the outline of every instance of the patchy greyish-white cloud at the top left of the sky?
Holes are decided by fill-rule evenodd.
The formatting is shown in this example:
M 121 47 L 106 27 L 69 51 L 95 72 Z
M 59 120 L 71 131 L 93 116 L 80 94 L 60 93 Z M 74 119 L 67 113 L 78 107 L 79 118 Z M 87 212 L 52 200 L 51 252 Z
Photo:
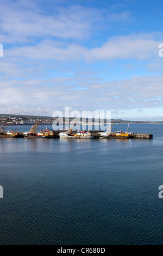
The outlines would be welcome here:
M 91 11 L 90 11 L 91 12 Z M 88 15 L 88 16 L 87 16 Z M 85 17 L 86 16 L 86 17 Z M 12 2 L 11 5 L 1 5 L 1 35 L 2 42 L 26 42 L 27 40 L 43 38 L 82 39 L 90 34 L 89 11 L 68 8 L 67 12 L 59 10 L 46 15 L 38 8 L 24 9 Z

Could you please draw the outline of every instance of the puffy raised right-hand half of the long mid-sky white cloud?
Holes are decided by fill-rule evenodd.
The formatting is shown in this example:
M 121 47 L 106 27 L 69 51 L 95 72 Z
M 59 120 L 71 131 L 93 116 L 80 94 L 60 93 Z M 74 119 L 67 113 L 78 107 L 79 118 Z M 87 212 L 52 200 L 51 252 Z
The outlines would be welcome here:
M 114 36 L 102 47 L 88 52 L 85 58 L 90 61 L 129 58 L 146 60 L 158 56 L 158 44 L 159 42 L 154 39 L 153 34 Z

